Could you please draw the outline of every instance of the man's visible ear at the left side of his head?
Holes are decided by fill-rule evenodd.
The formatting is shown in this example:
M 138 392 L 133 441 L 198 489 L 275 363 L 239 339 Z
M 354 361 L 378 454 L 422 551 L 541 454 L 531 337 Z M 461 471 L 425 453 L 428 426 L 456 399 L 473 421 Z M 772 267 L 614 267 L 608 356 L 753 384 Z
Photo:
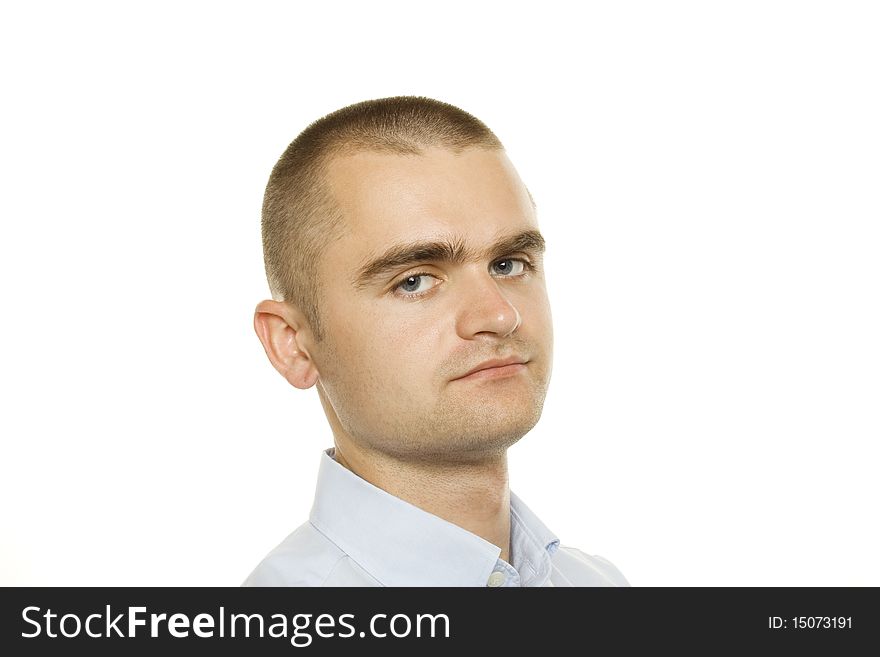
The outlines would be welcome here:
M 304 349 L 304 326 L 300 313 L 287 303 L 261 301 L 254 311 L 254 330 L 272 365 L 290 385 L 302 390 L 315 385 L 319 376 Z

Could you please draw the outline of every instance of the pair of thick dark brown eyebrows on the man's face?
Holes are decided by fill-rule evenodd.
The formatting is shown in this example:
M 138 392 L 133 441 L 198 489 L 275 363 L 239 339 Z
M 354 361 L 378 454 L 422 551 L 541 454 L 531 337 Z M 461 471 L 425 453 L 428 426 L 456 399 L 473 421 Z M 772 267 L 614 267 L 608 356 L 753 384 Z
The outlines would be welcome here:
M 544 249 L 544 237 L 537 230 L 526 230 L 516 235 L 502 237 L 485 249 L 468 247 L 460 236 L 441 240 L 400 242 L 393 244 L 380 256 L 358 269 L 352 282 L 354 287 L 360 290 L 391 270 L 426 260 L 464 264 L 482 259 L 494 260 L 510 255 L 514 251 L 528 251 L 537 255 L 543 253 Z

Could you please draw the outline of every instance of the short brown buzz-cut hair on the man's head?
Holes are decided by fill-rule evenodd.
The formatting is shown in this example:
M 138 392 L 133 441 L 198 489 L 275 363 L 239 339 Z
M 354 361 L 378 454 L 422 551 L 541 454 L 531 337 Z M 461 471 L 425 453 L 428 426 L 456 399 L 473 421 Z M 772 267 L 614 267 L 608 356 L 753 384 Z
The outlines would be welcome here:
M 348 105 L 313 121 L 275 164 L 263 197 L 266 278 L 273 299 L 302 311 L 315 340 L 324 338 L 319 263 L 345 228 L 326 183 L 327 165 L 338 155 L 420 155 L 432 146 L 454 153 L 504 148 L 482 121 L 454 105 L 424 96 L 392 96 Z

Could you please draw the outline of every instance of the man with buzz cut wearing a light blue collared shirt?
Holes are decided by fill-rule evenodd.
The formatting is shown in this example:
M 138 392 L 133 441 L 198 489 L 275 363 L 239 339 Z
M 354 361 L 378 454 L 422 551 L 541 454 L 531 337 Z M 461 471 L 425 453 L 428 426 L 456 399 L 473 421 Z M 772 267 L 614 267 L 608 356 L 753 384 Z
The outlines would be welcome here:
M 262 229 L 254 328 L 334 447 L 245 586 L 628 586 L 509 490 L 553 327 L 535 205 L 488 127 L 424 97 L 333 112 L 275 165 Z

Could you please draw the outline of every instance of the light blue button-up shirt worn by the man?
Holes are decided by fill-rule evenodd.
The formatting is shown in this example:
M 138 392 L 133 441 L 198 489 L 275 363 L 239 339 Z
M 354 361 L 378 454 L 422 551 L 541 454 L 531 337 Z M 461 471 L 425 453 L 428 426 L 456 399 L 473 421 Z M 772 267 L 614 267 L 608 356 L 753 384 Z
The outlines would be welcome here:
M 308 522 L 243 586 L 629 586 L 606 559 L 562 546 L 510 492 L 501 548 L 373 486 L 324 450 Z

